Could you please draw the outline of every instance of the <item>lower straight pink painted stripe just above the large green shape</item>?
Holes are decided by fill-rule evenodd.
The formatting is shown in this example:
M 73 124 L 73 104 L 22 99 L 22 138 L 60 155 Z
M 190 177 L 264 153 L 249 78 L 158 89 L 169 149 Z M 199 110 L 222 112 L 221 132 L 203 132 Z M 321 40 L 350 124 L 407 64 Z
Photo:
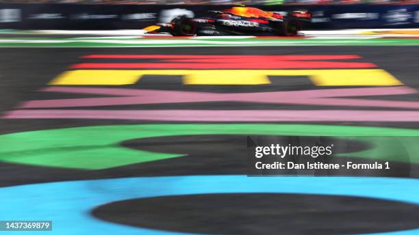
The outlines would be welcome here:
M 35 109 L 10 111 L 3 118 L 170 122 L 419 122 L 419 111 Z

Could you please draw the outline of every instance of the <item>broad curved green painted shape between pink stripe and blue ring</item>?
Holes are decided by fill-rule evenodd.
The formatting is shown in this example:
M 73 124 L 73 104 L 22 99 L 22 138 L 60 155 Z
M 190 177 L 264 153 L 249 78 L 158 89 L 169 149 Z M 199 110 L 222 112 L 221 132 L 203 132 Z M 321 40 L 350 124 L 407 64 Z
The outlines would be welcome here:
M 183 156 L 119 145 L 129 139 L 175 135 L 292 135 L 343 139 L 356 136 L 355 139 L 367 141 L 375 148 L 342 156 L 419 163 L 419 130 L 309 124 L 140 124 L 36 130 L 0 135 L 0 161 L 71 169 L 107 169 Z M 405 151 L 409 152 L 410 158 L 400 154 Z

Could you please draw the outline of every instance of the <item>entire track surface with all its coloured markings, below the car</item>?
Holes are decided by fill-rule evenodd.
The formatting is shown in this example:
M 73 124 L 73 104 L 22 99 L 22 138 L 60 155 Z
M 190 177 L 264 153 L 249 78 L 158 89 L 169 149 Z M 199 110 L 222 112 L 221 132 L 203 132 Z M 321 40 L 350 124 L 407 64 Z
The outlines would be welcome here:
M 25 47 L 3 40 L 0 46 Z M 419 47 L 398 45 L 417 41 L 1 48 L 0 219 L 52 220 L 51 234 L 416 234 Z M 276 75 L 251 68 L 272 63 L 264 70 L 281 70 Z M 229 66 L 259 79 L 238 84 L 241 77 L 226 77 Z M 89 70 L 90 77 L 71 74 L 76 70 Z M 98 70 L 113 70 L 116 77 Z M 153 72 L 138 80 L 127 70 Z M 194 79 L 183 75 L 190 70 L 204 72 Z M 362 71 L 345 80 L 353 70 Z M 211 71 L 215 75 L 205 76 Z M 129 82 L 119 84 L 124 79 Z M 314 95 L 305 98 L 304 92 Z M 318 96 L 326 98 L 317 102 Z M 284 136 L 310 136 L 305 141 L 327 135 L 326 143 L 341 144 L 342 156 L 331 162 L 389 161 L 392 169 L 290 170 L 278 171 L 288 177 L 247 178 L 248 135 L 277 143 L 288 143 Z M 353 139 L 337 141 L 345 135 Z M 368 139 L 374 135 L 388 142 Z M 385 144 L 362 152 L 376 143 Z

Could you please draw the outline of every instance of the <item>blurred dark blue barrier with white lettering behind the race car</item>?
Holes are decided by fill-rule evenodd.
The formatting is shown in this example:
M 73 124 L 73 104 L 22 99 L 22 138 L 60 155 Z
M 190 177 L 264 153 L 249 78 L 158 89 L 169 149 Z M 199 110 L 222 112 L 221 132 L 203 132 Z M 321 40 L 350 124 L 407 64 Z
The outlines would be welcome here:
M 419 27 L 419 5 L 260 5 L 312 12 L 313 29 Z M 175 16 L 205 16 L 228 5 L 0 4 L 3 29 L 142 29 Z

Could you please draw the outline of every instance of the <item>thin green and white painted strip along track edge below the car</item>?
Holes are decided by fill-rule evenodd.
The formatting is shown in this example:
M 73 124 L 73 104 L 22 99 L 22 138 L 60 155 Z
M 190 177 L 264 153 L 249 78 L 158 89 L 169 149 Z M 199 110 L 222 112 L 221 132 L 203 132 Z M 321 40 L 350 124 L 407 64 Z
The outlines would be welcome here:
M 3 47 L 158 47 L 158 46 L 411 46 L 416 38 L 0 38 Z

